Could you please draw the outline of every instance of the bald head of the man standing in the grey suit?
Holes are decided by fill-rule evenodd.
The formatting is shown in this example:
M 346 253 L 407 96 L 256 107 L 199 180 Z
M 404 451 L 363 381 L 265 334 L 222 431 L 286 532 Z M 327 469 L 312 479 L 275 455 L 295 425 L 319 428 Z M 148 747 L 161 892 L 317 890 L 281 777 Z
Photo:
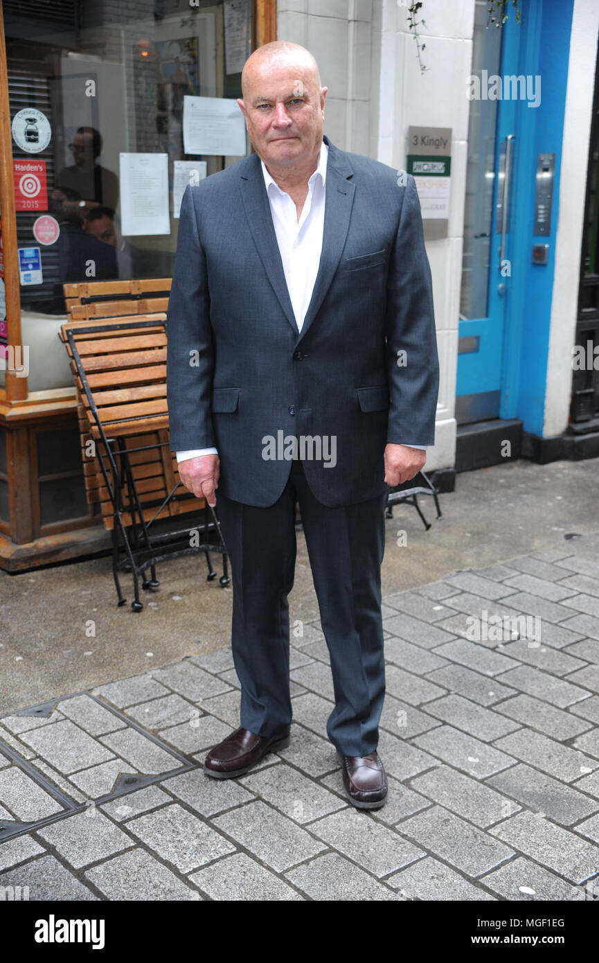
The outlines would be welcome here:
M 249 140 L 273 177 L 309 176 L 323 143 L 326 99 L 310 51 L 288 40 L 258 47 L 244 65 L 242 91 L 237 103 Z

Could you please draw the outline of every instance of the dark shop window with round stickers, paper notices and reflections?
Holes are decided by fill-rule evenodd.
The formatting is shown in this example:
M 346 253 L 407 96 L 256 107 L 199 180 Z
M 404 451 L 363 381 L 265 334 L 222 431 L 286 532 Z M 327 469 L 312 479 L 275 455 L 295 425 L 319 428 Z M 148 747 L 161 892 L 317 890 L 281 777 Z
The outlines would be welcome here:
M 247 154 L 251 6 L 5 0 L 25 313 L 63 315 L 65 282 L 171 275 L 186 184 Z

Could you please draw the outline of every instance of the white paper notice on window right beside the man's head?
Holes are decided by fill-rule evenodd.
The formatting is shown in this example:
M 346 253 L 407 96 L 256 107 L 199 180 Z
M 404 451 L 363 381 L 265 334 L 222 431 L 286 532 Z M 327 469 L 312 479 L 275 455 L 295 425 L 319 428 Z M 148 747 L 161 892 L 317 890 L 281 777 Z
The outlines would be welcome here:
M 236 100 L 183 98 L 183 148 L 186 154 L 246 156 L 246 121 Z

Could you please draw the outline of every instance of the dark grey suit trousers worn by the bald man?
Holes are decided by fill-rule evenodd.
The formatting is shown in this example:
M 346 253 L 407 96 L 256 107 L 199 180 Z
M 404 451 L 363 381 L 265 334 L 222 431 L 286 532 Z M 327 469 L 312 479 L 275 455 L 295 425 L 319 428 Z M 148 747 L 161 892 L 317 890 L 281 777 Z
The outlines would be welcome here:
M 217 492 L 231 560 L 240 724 L 250 732 L 272 736 L 291 722 L 287 596 L 294 584 L 298 501 L 335 692 L 326 732 L 344 755 L 377 748 L 385 690 L 380 563 L 386 497 L 326 508 L 310 491 L 300 461 L 292 463 L 283 494 L 269 508 Z

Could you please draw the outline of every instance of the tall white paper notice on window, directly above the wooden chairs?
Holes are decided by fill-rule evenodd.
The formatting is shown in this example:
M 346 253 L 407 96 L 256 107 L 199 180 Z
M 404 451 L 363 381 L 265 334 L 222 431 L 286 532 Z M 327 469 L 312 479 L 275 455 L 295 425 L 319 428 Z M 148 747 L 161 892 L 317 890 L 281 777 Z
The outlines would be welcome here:
M 169 234 L 169 155 L 120 154 L 121 232 Z

